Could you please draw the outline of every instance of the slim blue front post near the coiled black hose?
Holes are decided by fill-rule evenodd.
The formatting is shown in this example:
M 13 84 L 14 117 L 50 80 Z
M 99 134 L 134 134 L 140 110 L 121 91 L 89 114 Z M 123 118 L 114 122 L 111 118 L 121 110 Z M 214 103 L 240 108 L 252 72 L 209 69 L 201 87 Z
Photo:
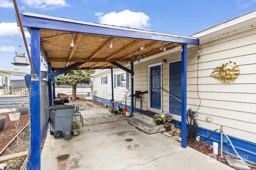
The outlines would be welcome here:
M 181 53 L 181 147 L 187 147 L 187 45 Z

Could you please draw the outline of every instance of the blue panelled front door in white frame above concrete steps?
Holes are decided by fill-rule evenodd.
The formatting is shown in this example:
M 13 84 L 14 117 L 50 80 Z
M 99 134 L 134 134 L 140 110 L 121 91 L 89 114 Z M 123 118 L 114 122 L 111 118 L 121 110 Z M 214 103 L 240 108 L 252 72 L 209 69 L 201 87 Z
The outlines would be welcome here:
M 161 109 L 161 66 L 150 68 L 150 107 Z

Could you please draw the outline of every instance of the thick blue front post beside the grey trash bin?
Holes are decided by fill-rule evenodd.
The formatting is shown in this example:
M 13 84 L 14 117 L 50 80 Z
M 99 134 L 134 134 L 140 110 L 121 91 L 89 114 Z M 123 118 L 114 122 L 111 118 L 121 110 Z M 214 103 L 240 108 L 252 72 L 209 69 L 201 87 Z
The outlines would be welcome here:
M 31 76 L 31 157 L 27 169 L 40 170 L 40 31 L 30 29 L 31 34 L 31 60 L 37 78 Z M 32 72 L 31 72 L 32 74 Z

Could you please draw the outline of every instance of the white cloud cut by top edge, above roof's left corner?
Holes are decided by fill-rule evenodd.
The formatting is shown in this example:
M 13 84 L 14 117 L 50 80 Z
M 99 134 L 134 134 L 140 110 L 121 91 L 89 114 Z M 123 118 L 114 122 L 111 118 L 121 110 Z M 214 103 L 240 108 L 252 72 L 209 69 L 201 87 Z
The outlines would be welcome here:
M 54 10 L 55 8 L 68 6 L 65 0 L 22 0 L 22 3 L 31 8 L 40 8 L 44 10 Z

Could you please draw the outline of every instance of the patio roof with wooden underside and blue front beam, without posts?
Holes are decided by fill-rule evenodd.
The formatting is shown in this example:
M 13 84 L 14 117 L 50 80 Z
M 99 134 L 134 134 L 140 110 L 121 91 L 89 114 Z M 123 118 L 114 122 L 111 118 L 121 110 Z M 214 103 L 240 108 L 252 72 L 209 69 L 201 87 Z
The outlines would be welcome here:
M 199 44 L 199 39 L 68 20 L 24 12 L 20 14 L 24 27 L 40 30 L 40 51 L 54 70 L 85 62 L 74 69 L 116 68 L 181 46 Z M 70 46 L 72 37 L 74 47 Z M 112 42 L 112 48 L 110 43 Z M 141 50 L 142 45 L 144 46 Z

